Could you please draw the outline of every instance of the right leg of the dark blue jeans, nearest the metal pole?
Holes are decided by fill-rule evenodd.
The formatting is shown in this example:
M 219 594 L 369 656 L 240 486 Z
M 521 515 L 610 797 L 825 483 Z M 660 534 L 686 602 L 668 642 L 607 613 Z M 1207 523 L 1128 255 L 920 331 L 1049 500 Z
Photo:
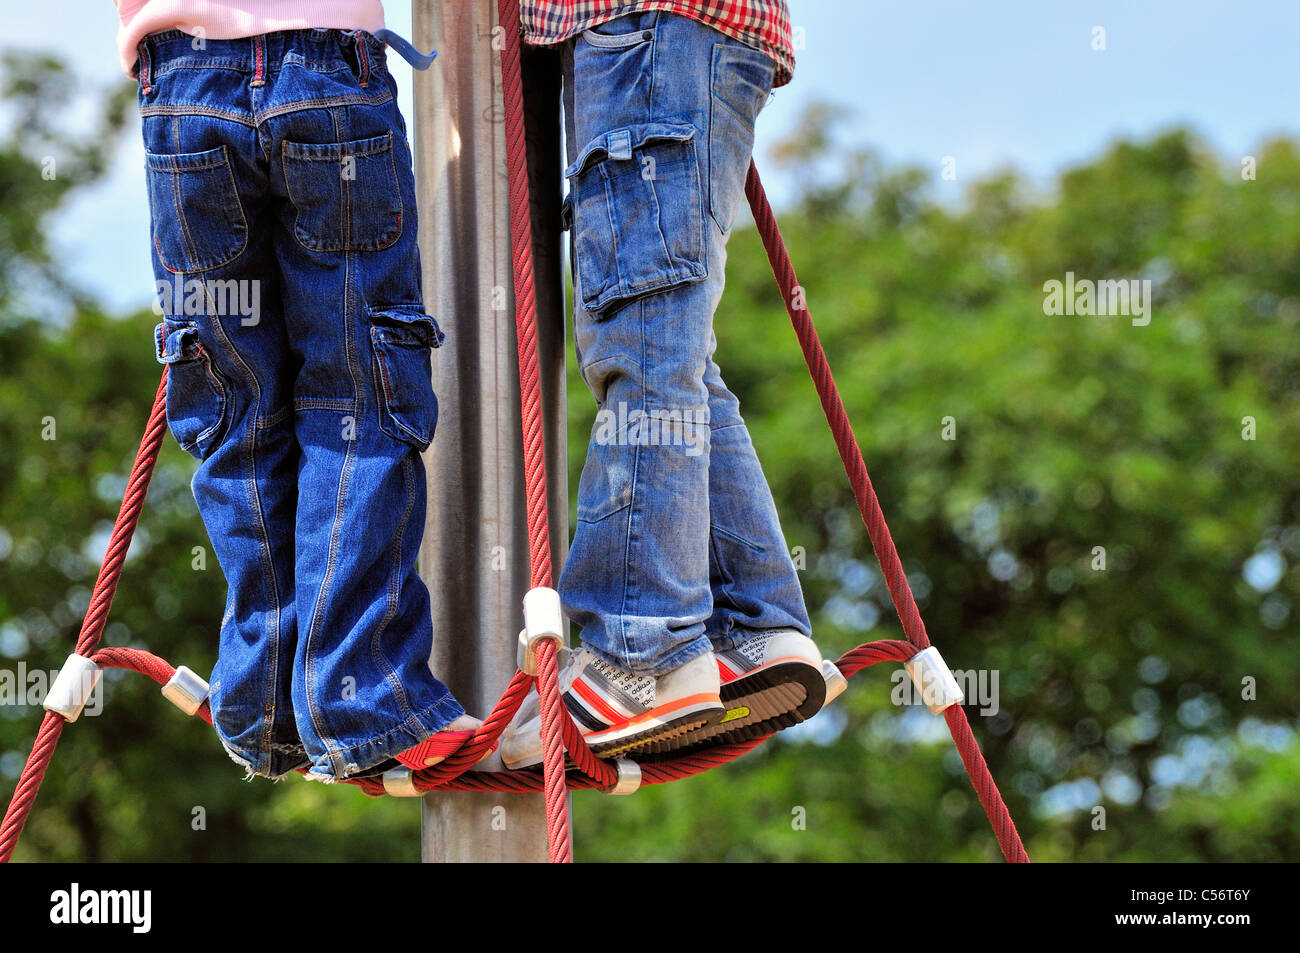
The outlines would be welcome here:
M 272 77 L 264 131 L 302 446 L 294 709 L 311 776 L 333 780 L 464 714 L 429 670 L 416 572 L 441 332 L 424 313 L 415 178 L 382 47 L 338 31 L 268 40 L 270 62 L 308 65 Z

